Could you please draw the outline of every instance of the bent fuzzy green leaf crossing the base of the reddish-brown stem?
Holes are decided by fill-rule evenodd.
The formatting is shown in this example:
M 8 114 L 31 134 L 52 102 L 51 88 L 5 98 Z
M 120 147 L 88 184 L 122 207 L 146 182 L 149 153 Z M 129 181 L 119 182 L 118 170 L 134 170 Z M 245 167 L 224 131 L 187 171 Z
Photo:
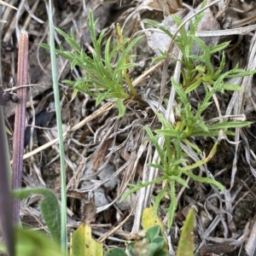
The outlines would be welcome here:
M 40 208 L 44 221 L 49 228 L 51 236 L 57 243 L 61 243 L 61 212 L 59 202 L 53 192 L 49 189 L 17 189 L 13 191 L 15 198 L 20 200 L 26 197 L 37 194 L 44 195 L 41 201 Z

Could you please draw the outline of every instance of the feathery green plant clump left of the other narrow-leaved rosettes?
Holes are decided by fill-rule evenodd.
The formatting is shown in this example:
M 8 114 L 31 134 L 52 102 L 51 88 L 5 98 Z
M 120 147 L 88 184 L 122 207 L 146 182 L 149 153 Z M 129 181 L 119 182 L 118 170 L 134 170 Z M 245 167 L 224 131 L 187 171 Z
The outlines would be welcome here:
M 67 44 L 74 50 L 74 52 L 65 51 L 60 46 L 60 49 L 55 49 L 56 54 L 71 61 L 72 68 L 78 66 L 84 72 L 84 78 L 78 79 L 77 81 L 64 80 L 63 82 L 73 86 L 75 89 L 74 95 L 80 90 L 96 98 L 96 106 L 103 100 L 115 102 L 119 109 L 119 117 L 121 117 L 125 113 L 123 100 L 137 96 L 137 92 L 131 84 L 127 70 L 129 67 L 137 66 L 136 63 L 129 62 L 131 57 L 134 57 L 134 55 L 129 54 L 135 44 L 143 37 L 141 36 L 133 40 L 123 40 L 118 27 L 119 43 L 109 37 L 103 52 L 102 39 L 105 31 L 102 31 L 99 37 L 96 38 L 96 22 L 97 21 L 94 21 L 92 10 L 90 10 L 88 27 L 94 48 L 92 57 L 86 55 L 84 50 L 80 48 L 72 31 L 70 32 L 70 36 L 68 36 L 65 32 L 61 31 L 61 29 L 56 28 L 56 31 L 65 38 Z M 47 44 L 40 44 L 40 46 L 49 49 L 49 45 Z M 124 87 L 123 77 L 125 77 L 131 93 Z

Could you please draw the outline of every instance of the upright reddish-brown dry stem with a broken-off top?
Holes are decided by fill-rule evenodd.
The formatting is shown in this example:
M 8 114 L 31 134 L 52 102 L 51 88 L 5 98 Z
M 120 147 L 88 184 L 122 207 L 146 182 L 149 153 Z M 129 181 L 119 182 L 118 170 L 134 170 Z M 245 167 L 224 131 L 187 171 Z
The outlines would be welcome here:
M 28 33 L 25 30 L 20 32 L 19 55 L 18 55 L 18 73 L 17 86 L 27 84 L 28 73 Z M 23 150 L 24 134 L 26 125 L 26 87 L 17 90 L 20 101 L 15 110 L 15 132 L 13 141 L 13 173 L 12 189 L 20 189 L 22 168 L 23 168 Z M 20 217 L 20 201 L 13 202 L 13 221 L 18 224 Z

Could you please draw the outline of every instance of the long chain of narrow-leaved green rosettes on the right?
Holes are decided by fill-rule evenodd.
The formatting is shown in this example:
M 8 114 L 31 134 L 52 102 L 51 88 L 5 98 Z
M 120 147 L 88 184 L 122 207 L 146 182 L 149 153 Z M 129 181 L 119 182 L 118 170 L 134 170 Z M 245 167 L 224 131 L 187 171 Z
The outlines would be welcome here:
M 250 122 L 246 121 L 230 121 L 223 117 L 219 117 L 218 123 L 209 124 L 204 119 L 204 113 L 212 104 L 212 98 L 217 92 L 223 93 L 224 90 L 241 90 L 241 87 L 236 84 L 225 84 L 226 79 L 252 75 L 255 71 L 245 71 L 236 66 L 228 72 L 223 72 L 225 63 L 224 54 L 222 55 L 219 67 L 213 67 L 212 55 L 227 47 L 229 43 L 207 46 L 200 38 L 196 38 L 196 26 L 202 16 L 203 14 L 197 15 L 194 21 L 190 21 L 189 32 L 186 32 L 185 28 L 182 27 L 180 35 L 175 38 L 175 43 L 183 53 L 183 59 L 177 60 L 182 63 L 183 84 L 177 83 L 173 78 L 171 79 L 172 86 L 174 86 L 177 93 L 177 105 L 175 107 L 176 123 L 169 123 L 159 113 L 158 118 L 162 125 L 161 129 L 154 130 L 153 132 L 148 126 L 145 126 L 145 130 L 148 133 L 148 141 L 154 145 L 159 155 L 159 161 L 148 164 L 148 166 L 160 170 L 160 177 L 148 183 L 130 184 L 132 189 L 122 197 L 125 198 L 127 195 L 131 195 L 138 189 L 142 189 L 148 185 L 163 183 L 163 189 L 160 194 L 155 196 L 154 212 L 157 212 L 161 199 L 169 195 L 171 199 L 170 207 L 167 209 L 169 228 L 172 225 L 177 207 L 177 183 L 188 187 L 184 179 L 185 176 L 192 178 L 196 182 L 210 183 L 218 187 L 218 189 L 224 190 L 224 186 L 211 177 L 199 177 L 191 172 L 191 170 L 206 164 L 207 161 L 212 159 L 218 147 L 218 140 L 214 143 L 207 157 L 190 166 L 186 164 L 189 160 L 189 155 L 184 150 L 183 145 L 199 155 L 201 154 L 201 149 L 193 143 L 193 137 L 218 137 L 220 131 L 226 135 L 234 136 L 235 133 L 230 131 L 230 129 L 244 127 L 250 124 Z M 174 15 L 174 19 L 177 22 L 177 26 L 182 24 L 182 20 L 176 15 Z M 145 22 L 158 26 L 153 20 L 146 20 Z M 173 38 L 171 32 L 167 31 L 165 27 L 158 27 Z M 195 44 L 200 46 L 201 55 L 193 54 Z M 189 102 L 189 93 L 196 90 L 199 86 L 204 88 L 205 96 L 202 102 L 198 103 L 197 108 L 193 108 Z M 163 139 L 163 144 L 160 143 L 161 139 Z

